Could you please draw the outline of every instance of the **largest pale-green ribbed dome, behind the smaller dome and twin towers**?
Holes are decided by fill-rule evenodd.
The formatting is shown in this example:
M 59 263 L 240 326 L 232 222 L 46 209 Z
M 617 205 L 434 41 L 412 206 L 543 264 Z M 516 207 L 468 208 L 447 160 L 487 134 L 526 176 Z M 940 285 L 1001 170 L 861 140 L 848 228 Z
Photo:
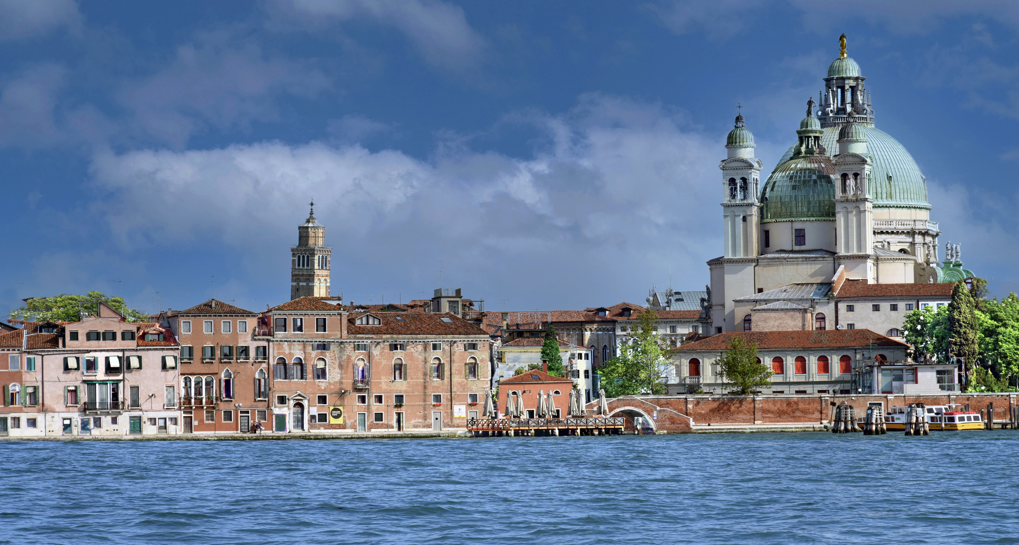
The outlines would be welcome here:
M 929 210 L 927 202 L 927 184 L 916 165 L 913 156 L 898 140 L 884 131 L 870 126 L 869 123 L 858 123 L 867 136 L 867 155 L 872 162 L 870 170 L 870 195 L 874 206 L 878 208 L 920 208 Z M 824 127 L 821 144 L 828 154 L 839 150 L 840 127 Z M 781 166 L 793 157 L 794 144 L 779 160 Z M 775 169 L 777 171 L 777 168 Z M 891 180 L 889 177 L 891 176 Z

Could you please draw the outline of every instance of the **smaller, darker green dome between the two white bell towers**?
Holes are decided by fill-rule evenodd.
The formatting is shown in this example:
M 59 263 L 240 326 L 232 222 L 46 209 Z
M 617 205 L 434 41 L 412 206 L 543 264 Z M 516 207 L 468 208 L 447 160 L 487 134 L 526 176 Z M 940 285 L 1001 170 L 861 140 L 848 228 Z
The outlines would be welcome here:
M 761 222 L 835 220 L 834 175 L 827 156 L 783 158 L 761 190 Z

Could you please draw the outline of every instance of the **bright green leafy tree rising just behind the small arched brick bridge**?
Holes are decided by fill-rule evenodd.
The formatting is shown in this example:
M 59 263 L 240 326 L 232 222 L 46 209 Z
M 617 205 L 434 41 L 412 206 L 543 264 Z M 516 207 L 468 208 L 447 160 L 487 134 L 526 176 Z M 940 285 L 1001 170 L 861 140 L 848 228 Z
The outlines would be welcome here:
M 646 309 L 638 318 L 637 329 L 629 342 L 620 346 L 620 355 L 598 370 L 605 396 L 661 395 L 671 365 L 658 343 L 658 315 Z

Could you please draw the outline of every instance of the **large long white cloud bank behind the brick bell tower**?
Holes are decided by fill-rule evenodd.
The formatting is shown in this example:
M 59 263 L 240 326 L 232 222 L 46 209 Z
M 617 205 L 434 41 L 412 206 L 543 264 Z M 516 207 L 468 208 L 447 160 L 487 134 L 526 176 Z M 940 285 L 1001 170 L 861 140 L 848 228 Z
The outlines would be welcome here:
M 221 244 L 285 278 L 280 256 L 314 197 L 341 263 L 334 287 L 364 293 L 357 287 L 380 275 L 407 283 L 441 260 L 447 281 L 483 279 L 507 293 L 570 270 L 570 288 L 534 295 L 553 305 L 582 299 L 579 290 L 632 298 L 671 266 L 703 284 L 720 247 L 711 204 L 725 149 L 683 119 L 587 96 L 567 114 L 518 119 L 548 137 L 526 159 L 455 146 L 422 161 L 321 142 L 104 155 L 93 175 L 108 196 L 96 209 L 125 243 Z

